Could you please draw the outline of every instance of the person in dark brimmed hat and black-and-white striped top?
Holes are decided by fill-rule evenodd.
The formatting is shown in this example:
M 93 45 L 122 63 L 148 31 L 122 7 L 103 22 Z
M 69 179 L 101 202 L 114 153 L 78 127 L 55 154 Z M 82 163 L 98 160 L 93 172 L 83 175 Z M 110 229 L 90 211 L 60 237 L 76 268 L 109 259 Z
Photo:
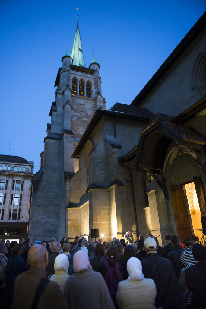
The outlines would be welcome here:
M 191 239 L 190 237 L 185 237 L 183 241 L 185 250 L 183 251 L 180 260 L 183 264 L 183 269 L 180 272 L 179 280 L 178 280 L 178 288 L 179 288 L 179 298 L 187 297 L 187 306 L 191 307 L 191 296 L 192 292 L 188 291 L 185 281 L 185 270 L 188 267 L 191 267 L 195 265 L 196 260 L 194 259 L 194 256 L 192 254 L 192 248 L 191 248 Z

